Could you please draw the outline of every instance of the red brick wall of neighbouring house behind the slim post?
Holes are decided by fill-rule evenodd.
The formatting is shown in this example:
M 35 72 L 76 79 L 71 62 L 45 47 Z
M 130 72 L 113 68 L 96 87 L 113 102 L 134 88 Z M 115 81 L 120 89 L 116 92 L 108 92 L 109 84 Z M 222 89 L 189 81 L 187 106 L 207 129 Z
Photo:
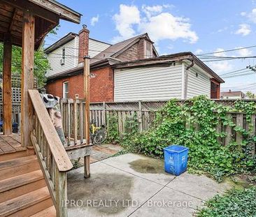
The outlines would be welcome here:
M 110 67 L 91 70 L 96 77 L 90 78 L 90 101 L 97 102 L 113 102 L 114 100 L 114 77 L 113 70 Z M 69 82 L 69 98 L 74 98 L 75 94 L 79 94 L 83 98 L 83 74 L 65 77 L 46 85 L 47 92 L 63 97 L 63 82 Z

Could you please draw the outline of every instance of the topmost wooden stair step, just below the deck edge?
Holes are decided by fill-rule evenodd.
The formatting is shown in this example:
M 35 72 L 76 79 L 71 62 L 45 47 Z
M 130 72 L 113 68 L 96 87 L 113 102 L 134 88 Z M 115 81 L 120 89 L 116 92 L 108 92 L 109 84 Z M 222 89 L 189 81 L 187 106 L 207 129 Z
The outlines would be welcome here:
M 0 180 L 39 170 L 36 155 L 0 162 Z

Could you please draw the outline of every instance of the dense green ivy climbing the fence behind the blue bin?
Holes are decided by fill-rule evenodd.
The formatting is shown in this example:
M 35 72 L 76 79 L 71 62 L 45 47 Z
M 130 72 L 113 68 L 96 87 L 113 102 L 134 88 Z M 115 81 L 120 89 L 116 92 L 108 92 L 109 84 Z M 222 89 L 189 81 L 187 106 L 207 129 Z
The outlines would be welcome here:
M 250 123 L 251 114 L 256 112 L 255 103 L 237 101 L 234 107 L 227 107 L 209 100 L 206 96 L 197 96 L 178 105 L 176 99 L 170 100 L 157 112 L 150 130 L 131 134 L 121 144 L 129 151 L 157 158 L 163 157 L 163 148 L 171 144 L 189 147 L 188 168 L 208 173 L 217 181 L 232 174 L 255 172 L 256 159 L 250 155 L 250 130 L 235 127 L 243 133 L 243 144 L 234 142 L 222 146 L 218 140 L 227 136 L 224 131 L 217 132 L 216 126 L 234 126 L 227 112 L 244 112 Z M 241 151 L 242 149 L 242 151 Z

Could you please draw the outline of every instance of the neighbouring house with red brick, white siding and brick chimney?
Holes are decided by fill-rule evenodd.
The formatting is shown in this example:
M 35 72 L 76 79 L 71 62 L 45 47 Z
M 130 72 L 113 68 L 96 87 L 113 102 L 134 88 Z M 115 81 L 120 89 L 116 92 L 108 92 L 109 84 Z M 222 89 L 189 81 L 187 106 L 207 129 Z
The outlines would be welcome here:
M 79 52 L 64 57 L 69 61 L 68 57 L 75 56 L 70 59 L 73 68 L 55 70 L 52 67 L 47 74 L 48 93 L 66 98 L 78 93 L 83 97 L 83 57 L 96 49 L 90 48 L 87 29 L 82 29 L 76 37 L 79 43 L 73 46 Z M 70 41 L 63 40 L 51 47 L 63 49 L 70 46 L 67 43 Z M 224 81 L 194 54 L 183 52 L 159 57 L 153 44 L 148 33 L 144 33 L 108 45 L 102 52 L 103 47 L 98 47 L 99 53 L 90 60 L 90 101 L 185 99 L 201 94 L 220 98 L 220 83 Z M 46 52 L 50 56 L 53 50 L 49 47 Z M 51 66 L 58 65 L 59 59 L 49 58 Z

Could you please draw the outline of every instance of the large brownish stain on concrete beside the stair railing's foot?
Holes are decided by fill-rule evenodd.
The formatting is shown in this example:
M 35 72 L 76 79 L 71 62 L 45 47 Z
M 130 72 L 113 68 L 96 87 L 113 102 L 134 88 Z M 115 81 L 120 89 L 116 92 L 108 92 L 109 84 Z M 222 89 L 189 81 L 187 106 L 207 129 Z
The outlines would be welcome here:
M 118 214 L 131 203 L 133 178 L 121 174 L 94 174 L 90 179 L 68 179 L 69 209 L 94 209 L 105 215 Z M 81 206 L 81 204 L 83 204 Z

